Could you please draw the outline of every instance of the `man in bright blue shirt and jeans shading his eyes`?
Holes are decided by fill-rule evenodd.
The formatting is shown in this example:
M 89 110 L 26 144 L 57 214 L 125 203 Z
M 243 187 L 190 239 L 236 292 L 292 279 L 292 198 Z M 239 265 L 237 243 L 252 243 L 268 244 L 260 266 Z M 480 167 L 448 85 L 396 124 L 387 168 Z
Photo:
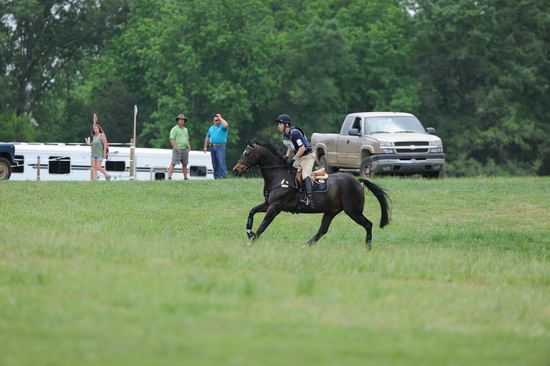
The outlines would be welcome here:
M 229 123 L 222 118 L 221 114 L 214 115 L 214 124 L 210 126 L 204 139 L 204 152 L 210 146 L 210 156 L 214 167 L 214 179 L 223 179 L 227 176 L 225 165 L 227 133 Z

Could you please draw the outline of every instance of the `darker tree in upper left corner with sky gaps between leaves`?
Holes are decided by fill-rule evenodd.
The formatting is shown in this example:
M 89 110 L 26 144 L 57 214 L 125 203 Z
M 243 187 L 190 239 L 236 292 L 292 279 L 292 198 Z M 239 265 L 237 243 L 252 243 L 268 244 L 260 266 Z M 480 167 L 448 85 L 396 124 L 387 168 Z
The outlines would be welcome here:
M 47 130 L 46 96 L 63 79 L 78 81 L 79 62 L 116 34 L 127 0 L 4 0 L 0 13 L 0 109 L 31 116 Z

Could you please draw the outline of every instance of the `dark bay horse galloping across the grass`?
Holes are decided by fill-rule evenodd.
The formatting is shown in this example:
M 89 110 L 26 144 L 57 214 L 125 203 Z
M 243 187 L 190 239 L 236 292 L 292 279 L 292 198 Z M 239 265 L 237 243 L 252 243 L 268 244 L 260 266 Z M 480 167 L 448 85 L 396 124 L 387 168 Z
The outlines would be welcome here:
M 281 213 L 322 213 L 321 227 L 319 231 L 309 239 L 305 245 L 309 246 L 317 242 L 326 234 L 332 219 L 344 211 L 353 221 L 363 226 L 367 231 L 366 245 L 371 249 L 372 222 L 363 215 L 365 196 L 363 183 L 378 199 L 382 216 L 380 227 L 390 222 L 388 210 L 388 196 L 386 192 L 376 184 L 366 179 L 355 179 L 344 174 L 331 174 L 326 179 L 328 190 L 325 192 L 313 192 L 315 207 L 311 208 L 299 203 L 303 193 L 286 184 L 294 181 L 296 172 L 292 171 L 281 154 L 271 145 L 257 141 L 248 142 L 237 165 L 233 168 L 233 174 L 241 175 L 244 171 L 259 166 L 264 178 L 265 201 L 250 210 L 246 223 L 247 235 L 250 240 L 257 239 L 267 229 L 273 219 Z M 361 183 L 360 183 L 361 182 Z M 266 212 L 264 220 L 256 232 L 252 231 L 254 215 L 257 212 Z

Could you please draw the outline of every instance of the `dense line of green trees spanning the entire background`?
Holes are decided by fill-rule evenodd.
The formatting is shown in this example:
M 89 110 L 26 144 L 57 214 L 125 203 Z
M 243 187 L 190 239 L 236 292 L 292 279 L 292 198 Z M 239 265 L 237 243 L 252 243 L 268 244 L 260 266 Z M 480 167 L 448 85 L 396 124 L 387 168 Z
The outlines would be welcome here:
M 229 163 L 358 111 L 417 115 L 450 175 L 550 174 L 550 2 L 544 0 L 2 0 L 0 141 L 78 142 L 98 113 L 127 142 L 192 148 L 221 113 Z

